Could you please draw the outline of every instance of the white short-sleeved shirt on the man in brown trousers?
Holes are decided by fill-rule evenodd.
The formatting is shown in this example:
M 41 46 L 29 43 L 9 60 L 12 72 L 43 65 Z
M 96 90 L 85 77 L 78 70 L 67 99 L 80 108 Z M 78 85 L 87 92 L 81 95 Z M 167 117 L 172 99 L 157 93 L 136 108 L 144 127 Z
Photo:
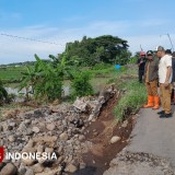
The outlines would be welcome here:
M 167 67 L 172 67 L 172 56 L 165 55 L 161 58 L 159 63 L 159 81 L 160 83 L 165 83 Z M 168 83 L 172 83 L 172 73 L 168 79 Z

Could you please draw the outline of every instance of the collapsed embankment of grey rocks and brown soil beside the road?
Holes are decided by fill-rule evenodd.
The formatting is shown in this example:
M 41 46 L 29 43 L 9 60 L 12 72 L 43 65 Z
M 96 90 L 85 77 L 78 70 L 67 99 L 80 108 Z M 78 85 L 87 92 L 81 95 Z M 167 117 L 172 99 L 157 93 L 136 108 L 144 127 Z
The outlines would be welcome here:
M 1 121 L 0 145 L 5 153 L 47 153 L 57 159 L 4 159 L 0 175 L 61 175 L 83 171 L 90 175 L 92 170 L 93 174 L 102 174 L 127 144 L 132 128 L 130 121 L 122 126 L 115 122 L 113 109 L 119 95 L 112 85 L 97 97 L 78 98 L 73 105 L 43 106 Z

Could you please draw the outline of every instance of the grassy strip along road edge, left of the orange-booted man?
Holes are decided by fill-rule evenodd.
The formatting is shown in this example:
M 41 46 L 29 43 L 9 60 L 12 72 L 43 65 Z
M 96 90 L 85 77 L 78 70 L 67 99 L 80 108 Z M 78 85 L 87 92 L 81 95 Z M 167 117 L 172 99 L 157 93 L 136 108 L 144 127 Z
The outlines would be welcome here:
M 121 98 L 116 105 L 114 113 L 117 120 L 125 120 L 130 114 L 136 114 L 147 101 L 147 90 L 144 83 L 139 83 L 137 78 L 137 67 L 126 70 L 117 79 L 117 88 L 122 91 Z

